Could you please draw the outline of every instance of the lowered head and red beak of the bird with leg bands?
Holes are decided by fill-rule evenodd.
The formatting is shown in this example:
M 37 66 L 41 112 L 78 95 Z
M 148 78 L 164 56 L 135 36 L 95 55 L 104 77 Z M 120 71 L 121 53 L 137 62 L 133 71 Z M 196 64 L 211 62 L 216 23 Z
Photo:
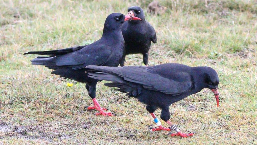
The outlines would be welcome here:
M 219 91 L 218 91 L 218 85 L 219 85 L 219 77 L 217 72 L 210 68 L 210 67 L 203 67 L 203 73 L 204 73 L 204 88 L 209 88 L 214 93 L 217 106 L 219 107 Z

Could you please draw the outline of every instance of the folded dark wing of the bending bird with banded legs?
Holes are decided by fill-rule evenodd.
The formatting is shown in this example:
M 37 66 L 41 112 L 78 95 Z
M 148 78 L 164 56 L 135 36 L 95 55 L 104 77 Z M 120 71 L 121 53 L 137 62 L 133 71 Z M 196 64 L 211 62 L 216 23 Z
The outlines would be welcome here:
M 190 88 L 192 88 L 193 86 L 190 74 L 186 72 L 175 73 L 175 71 L 172 71 L 172 74 L 170 74 L 170 76 L 167 76 L 166 74 L 162 74 L 162 70 L 158 70 L 158 67 L 156 66 L 87 66 L 86 68 L 105 72 L 105 78 L 101 77 L 101 73 L 99 72 L 97 76 L 95 76 L 95 73 L 89 72 L 89 77 L 97 77 L 97 79 L 116 82 L 122 82 L 122 80 L 123 82 L 133 82 L 142 85 L 145 89 L 160 91 L 166 94 L 179 95 L 182 92 L 190 90 Z M 108 73 L 109 75 L 107 75 L 106 73 Z

